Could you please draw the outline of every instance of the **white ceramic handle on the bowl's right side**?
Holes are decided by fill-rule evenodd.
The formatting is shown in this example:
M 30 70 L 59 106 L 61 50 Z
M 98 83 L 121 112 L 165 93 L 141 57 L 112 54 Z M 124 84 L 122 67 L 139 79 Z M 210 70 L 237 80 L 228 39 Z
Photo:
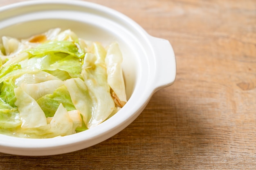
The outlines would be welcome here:
M 176 78 L 176 60 L 173 48 L 166 39 L 150 37 L 155 52 L 155 91 L 174 83 Z

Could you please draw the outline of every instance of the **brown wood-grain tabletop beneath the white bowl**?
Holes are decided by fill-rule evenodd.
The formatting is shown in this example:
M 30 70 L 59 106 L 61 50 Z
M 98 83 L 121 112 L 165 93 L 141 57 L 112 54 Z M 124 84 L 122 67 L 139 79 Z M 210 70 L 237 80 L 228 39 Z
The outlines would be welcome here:
M 174 85 L 100 144 L 44 157 L 0 153 L 0 169 L 256 169 L 256 1 L 89 1 L 168 39 Z

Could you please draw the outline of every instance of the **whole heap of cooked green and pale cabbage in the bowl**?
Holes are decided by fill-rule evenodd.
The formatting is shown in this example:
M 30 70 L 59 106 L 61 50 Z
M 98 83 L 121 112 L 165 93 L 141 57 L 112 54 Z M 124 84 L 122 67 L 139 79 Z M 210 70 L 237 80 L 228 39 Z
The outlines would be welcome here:
M 0 133 L 49 138 L 85 131 L 125 105 L 122 54 L 60 28 L 0 43 Z

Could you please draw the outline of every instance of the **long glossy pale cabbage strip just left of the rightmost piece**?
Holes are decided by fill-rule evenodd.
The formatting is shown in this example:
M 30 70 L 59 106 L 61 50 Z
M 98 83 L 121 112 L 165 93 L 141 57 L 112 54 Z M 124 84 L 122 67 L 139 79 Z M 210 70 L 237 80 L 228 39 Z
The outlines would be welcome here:
M 92 98 L 92 117 L 87 123 L 89 129 L 106 120 L 115 108 L 114 100 L 110 95 L 110 86 L 107 82 L 106 50 L 101 44 L 94 43 L 92 54 L 96 57 L 95 59 L 92 59 L 92 55 L 85 55 L 85 58 L 88 56 L 90 60 L 84 59 L 81 73 Z M 94 66 L 88 68 L 88 63 L 85 61 L 95 61 Z

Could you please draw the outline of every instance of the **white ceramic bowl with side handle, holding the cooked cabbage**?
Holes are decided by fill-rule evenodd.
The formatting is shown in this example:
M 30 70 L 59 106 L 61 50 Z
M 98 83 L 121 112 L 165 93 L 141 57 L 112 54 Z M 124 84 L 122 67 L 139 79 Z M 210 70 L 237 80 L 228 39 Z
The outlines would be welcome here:
M 154 92 L 175 81 L 176 63 L 171 44 L 148 35 L 133 20 L 108 7 L 74 0 L 26 1 L 0 7 L 0 37 L 25 38 L 55 27 L 70 28 L 79 37 L 103 45 L 119 42 L 124 55 L 128 102 L 99 126 L 73 135 L 51 139 L 0 135 L 2 153 L 56 155 L 98 144 L 128 126 Z

